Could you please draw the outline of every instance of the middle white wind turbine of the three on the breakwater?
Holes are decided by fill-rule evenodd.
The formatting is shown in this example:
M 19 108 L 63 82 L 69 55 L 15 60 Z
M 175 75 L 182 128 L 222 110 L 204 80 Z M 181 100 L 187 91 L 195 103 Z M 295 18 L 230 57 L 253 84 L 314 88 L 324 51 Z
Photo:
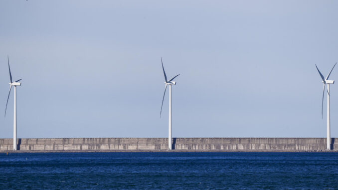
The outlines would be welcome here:
M 163 99 L 162 99 L 160 118 L 161 118 L 161 114 L 162 114 L 163 101 L 165 100 L 167 86 L 169 85 L 169 137 L 168 137 L 168 148 L 169 148 L 169 150 L 171 150 L 172 149 L 172 143 L 171 143 L 171 85 L 176 85 L 176 82 L 174 82 L 172 80 L 174 78 L 176 78 L 179 74 L 176 75 L 176 76 L 174 76 L 172 79 L 170 79 L 168 81 L 167 80 L 167 75 L 166 75 L 165 68 L 163 67 L 162 57 L 161 57 L 161 62 L 162 62 L 163 73 L 165 74 L 165 84 L 166 84 L 166 87 L 165 87 L 165 93 L 163 94 Z

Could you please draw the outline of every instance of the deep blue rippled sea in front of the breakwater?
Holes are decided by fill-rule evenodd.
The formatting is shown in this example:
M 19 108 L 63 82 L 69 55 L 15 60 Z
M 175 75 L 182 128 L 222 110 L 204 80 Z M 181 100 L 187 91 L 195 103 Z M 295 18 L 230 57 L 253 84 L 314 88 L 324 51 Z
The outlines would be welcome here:
M 338 153 L 0 154 L 0 189 L 338 189 Z

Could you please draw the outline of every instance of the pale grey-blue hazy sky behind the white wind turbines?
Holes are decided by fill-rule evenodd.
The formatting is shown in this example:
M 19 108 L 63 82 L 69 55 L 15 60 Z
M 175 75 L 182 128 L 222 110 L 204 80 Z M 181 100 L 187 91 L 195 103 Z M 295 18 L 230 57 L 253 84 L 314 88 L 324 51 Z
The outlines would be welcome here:
M 326 137 L 315 64 L 326 76 L 338 61 L 337 7 L 334 0 L 2 0 L 0 110 L 8 55 L 13 80 L 22 78 L 18 138 L 168 137 L 162 57 L 168 78 L 180 74 L 172 137 Z M 338 80 L 337 69 L 330 79 Z M 12 136 L 13 91 L 0 117 L 0 138 Z

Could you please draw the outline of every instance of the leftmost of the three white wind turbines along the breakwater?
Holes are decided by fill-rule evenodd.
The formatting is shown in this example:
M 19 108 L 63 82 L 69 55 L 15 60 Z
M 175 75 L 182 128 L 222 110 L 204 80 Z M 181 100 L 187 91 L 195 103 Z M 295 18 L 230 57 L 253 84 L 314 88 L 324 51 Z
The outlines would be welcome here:
M 9 99 L 9 94 L 10 94 L 10 90 L 12 89 L 12 86 L 14 86 L 14 122 L 13 122 L 13 150 L 16 151 L 16 86 L 20 86 L 21 83 L 19 83 L 19 80 L 12 82 L 12 74 L 10 73 L 10 67 L 9 67 L 9 58 L 7 56 L 7 61 L 8 61 L 8 69 L 9 69 L 9 79 L 10 79 L 10 83 L 9 83 L 9 93 L 8 93 L 8 97 L 7 97 L 7 103 L 6 103 L 6 109 L 4 110 L 4 117 L 6 117 L 6 111 L 7 111 L 7 104 L 8 104 L 8 99 Z

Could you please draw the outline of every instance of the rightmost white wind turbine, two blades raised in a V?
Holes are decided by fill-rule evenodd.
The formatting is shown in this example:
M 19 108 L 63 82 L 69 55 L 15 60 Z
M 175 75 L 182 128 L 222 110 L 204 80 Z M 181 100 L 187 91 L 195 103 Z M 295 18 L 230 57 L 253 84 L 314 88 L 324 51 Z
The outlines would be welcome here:
M 337 63 L 336 63 L 337 64 Z M 328 76 L 326 78 L 324 78 L 324 76 L 322 75 L 321 71 L 319 71 L 317 65 L 316 68 L 319 72 L 319 74 L 321 75 L 322 78 L 322 82 L 324 83 L 323 86 L 323 98 L 322 98 L 322 119 L 323 119 L 323 103 L 324 103 L 324 93 L 325 93 L 325 85 L 328 84 L 328 113 L 327 113 L 327 117 L 328 117 L 328 121 L 327 121 L 327 126 L 328 126 L 328 130 L 327 130 L 327 149 L 331 150 L 331 138 L 330 138 L 330 84 L 334 84 L 335 81 L 334 80 L 328 80 L 329 76 L 332 72 L 332 70 L 335 68 L 336 64 L 332 67 L 331 71 L 329 72 Z

